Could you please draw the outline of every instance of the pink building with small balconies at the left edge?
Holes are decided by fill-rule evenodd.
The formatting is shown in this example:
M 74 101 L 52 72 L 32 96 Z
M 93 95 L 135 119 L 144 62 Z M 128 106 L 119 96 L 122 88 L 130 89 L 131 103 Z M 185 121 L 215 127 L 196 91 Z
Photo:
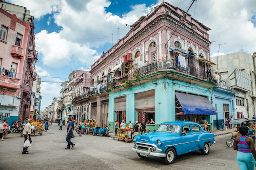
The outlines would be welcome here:
M 23 22 L 0 9 L 0 27 L 0 112 L 11 123 L 29 116 L 37 57 L 33 17 Z

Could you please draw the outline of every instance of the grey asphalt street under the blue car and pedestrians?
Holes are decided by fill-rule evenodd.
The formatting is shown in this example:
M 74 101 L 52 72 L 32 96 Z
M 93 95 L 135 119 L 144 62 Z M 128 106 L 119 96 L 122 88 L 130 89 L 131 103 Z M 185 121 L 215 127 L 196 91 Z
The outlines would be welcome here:
M 139 158 L 131 151 L 133 143 L 113 140 L 112 137 L 79 136 L 75 133 L 72 142 L 74 149 L 65 150 L 66 128 L 59 131 L 57 123 L 49 127 L 42 136 L 32 135 L 32 147 L 29 154 L 21 154 L 24 137 L 8 134 L 0 141 L 0 170 L 238 170 L 236 151 L 226 146 L 231 135 L 215 137 L 216 144 L 210 147 L 209 155 L 195 151 L 176 157 L 171 165 L 165 165 L 161 159 Z M 74 131 L 75 132 L 75 131 Z

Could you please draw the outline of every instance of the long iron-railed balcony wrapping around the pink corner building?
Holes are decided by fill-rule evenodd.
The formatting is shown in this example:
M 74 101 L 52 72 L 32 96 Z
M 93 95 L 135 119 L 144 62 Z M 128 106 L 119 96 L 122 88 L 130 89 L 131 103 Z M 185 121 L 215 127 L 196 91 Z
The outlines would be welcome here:
M 200 85 L 206 88 L 212 88 L 217 85 L 215 76 L 207 74 L 207 70 L 203 68 L 188 65 L 186 65 L 186 67 L 182 67 L 174 60 L 170 60 L 168 62 L 170 62 L 170 65 L 168 66 L 166 66 L 167 61 L 162 60 L 141 68 L 133 68 L 133 71 L 130 70 L 129 73 L 112 79 L 108 83 L 102 83 L 101 92 L 110 92 L 117 87 L 121 87 L 120 90 L 122 90 L 125 89 L 127 85 L 141 85 L 165 77 L 189 84 L 193 81 L 194 85 Z M 205 63 L 205 65 L 209 69 L 212 67 L 211 64 Z M 94 88 L 88 93 L 88 96 L 96 94 L 98 94 L 98 90 Z

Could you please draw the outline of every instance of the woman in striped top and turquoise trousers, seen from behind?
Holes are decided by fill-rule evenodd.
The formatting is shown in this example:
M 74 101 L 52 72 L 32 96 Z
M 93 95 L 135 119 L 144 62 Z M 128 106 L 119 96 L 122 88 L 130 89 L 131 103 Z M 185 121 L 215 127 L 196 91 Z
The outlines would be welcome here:
M 251 137 L 246 136 L 248 134 L 248 127 L 239 127 L 239 133 L 241 136 L 237 136 L 234 142 L 234 150 L 237 151 L 236 160 L 240 167 L 240 170 L 254 170 L 256 151 L 254 147 L 254 141 Z

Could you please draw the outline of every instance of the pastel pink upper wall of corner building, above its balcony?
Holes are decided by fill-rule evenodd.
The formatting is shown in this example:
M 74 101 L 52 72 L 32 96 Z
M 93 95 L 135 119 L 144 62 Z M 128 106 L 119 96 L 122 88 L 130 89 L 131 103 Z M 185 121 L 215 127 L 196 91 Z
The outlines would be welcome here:
M 178 28 L 168 42 L 168 45 L 165 46 L 169 36 L 175 30 L 176 25 L 174 22 L 178 22 L 175 20 L 175 18 L 171 17 L 170 14 L 176 13 L 176 16 L 181 19 L 182 11 L 168 3 L 159 5 L 155 9 L 156 10 L 154 13 L 150 14 L 148 17 L 145 17 L 135 28 L 120 39 L 120 41 L 114 45 L 114 48 L 107 51 L 101 57 L 101 59 L 92 65 L 90 72 L 91 79 L 94 79 L 94 82 L 96 82 L 97 77 L 99 77 L 99 80 L 101 80 L 101 75 L 103 72 L 104 75 L 106 75 L 109 68 L 112 69 L 116 66 L 116 64 L 123 62 L 123 55 L 127 53 L 132 53 L 132 58 L 134 59 L 136 51 L 140 51 L 140 60 L 144 61 L 146 65 L 152 62 L 152 54 L 155 52 L 157 52 L 158 60 L 164 58 L 170 59 L 171 53 L 168 52 L 168 45 L 173 46 L 174 41 L 177 39 L 181 42 L 184 50 L 187 51 L 188 48 L 191 47 L 197 55 L 199 51 L 202 50 L 205 58 L 210 60 L 209 44 L 211 44 L 211 42 L 209 41 L 209 35 L 205 29 L 207 27 L 203 28 L 203 26 L 201 26 L 202 24 L 199 24 L 198 21 L 191 18 L 190 15 L 187 15 L 184 22 L 181 23 L 182 29 Z M 158 20 L 161 20 L 159 21 L 158 25 L 153 26 L 152 24 Z M 197 27 L 194 26 L 189 28 L 186 26 L 186 24 L 191 24 L 191 22 Z M 202 33 L 202 35 L 198 34 L 197 30 Z M 143 32 L 146 32 L 146 34 L 141 36 Z M 129 41 L 132 39 L 136 40 L 128 45 Z M 156 41 L 157 47 L 148 51 L 148 46 L 152 40 Z M 115 55 L 114 57 L 112 57 L 113 53 Z

